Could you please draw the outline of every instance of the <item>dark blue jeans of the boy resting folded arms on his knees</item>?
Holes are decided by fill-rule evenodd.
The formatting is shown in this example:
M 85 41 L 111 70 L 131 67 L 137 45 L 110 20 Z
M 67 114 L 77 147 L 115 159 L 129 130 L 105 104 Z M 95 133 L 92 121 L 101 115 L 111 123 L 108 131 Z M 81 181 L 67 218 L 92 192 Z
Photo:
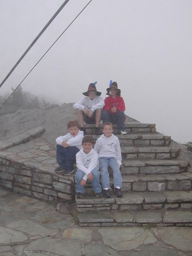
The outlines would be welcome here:
M 74 169 L 73 164 L 76 161 L 77 152 L 79 152 L 77 147 L 64 148 L 63 146 L 57 145 L 56 157 L 59 166 L 72 171 Z

